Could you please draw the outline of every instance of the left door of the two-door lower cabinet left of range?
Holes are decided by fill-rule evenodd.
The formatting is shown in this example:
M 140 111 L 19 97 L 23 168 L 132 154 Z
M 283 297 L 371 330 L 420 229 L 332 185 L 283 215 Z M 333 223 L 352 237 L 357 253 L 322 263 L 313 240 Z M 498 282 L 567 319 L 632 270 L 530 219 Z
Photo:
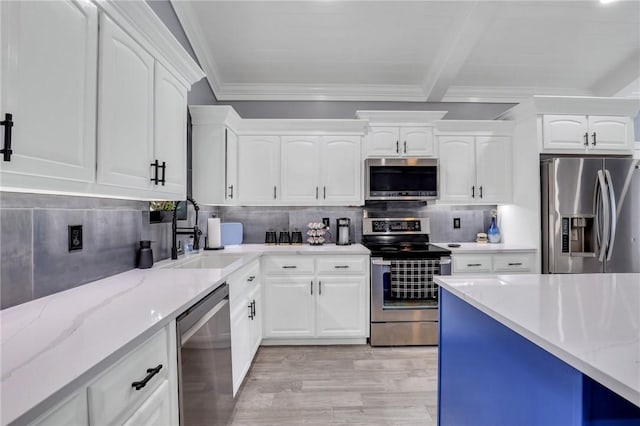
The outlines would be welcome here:
M 313 337 L 315 299 L 313 276 L 269 277 L 264 290 L 264 337 Z

